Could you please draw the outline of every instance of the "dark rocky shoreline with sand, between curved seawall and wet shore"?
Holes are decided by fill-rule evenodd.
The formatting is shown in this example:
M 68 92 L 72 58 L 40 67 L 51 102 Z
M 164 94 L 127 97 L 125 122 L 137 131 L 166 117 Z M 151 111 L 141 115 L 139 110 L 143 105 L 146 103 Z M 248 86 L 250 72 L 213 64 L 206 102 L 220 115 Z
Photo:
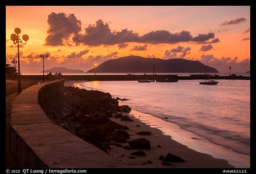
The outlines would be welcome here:
M 65 86 L 44 100 L 41 107 L 53 122 L 132 168 L 233 168 L 140 122 L 109 93 Z

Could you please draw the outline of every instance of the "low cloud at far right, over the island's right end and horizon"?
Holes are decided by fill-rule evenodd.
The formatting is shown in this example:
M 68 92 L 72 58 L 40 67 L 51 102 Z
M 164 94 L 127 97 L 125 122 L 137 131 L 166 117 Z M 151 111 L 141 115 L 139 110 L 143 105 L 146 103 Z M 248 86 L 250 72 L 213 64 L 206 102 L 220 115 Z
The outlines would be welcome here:
M 250 70 L 251 61 L 249 58 L 237 62 L 238 58 L 234 59 L 230 57 L 216 58 L 213 54 L 204 55 L 202 54 L 198 61 L 202 62 L 204 65 L 216 68 L 219 72 L 228 72 L 229 66 L 232 67 L 233 72 L 243 73 Z

